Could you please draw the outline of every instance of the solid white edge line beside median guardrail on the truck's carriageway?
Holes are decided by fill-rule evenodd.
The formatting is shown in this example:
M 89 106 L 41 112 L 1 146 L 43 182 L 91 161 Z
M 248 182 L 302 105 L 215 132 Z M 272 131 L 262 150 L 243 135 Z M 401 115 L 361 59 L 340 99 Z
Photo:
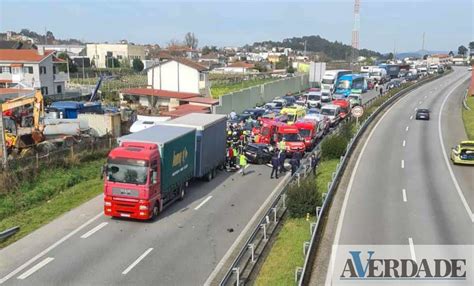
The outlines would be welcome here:
M 288 178 L 290 177 L 290 173 L 287 172 L 283 180 L 281 180 L 278 185 L 273 189 L 273 192 L 267 197 L 265 202 L 260 206 L 260 208 L 257 210 L 257 212 L 253 215 L 253 217 L 249 220 L 245 228 L 240 232 L 239 236 L 234 240 L 234 243 L 230 246 L 230 248 L 227 250 L 227 252 L 224 254 L 222 257 L 221 261 L 217 263 L 217 266 L 214 267 L 214 270 L 211 272 L 209 277 L 207 277 L 206 281 L 204 282 L 204 285 L 209 286 L 211 285 L 211 282 L 216 278 L 217 274 L 222 270 L 222 267 L 224 267 L 224 263 L 229 260 L 229 257 L 232 255 L 234 250 L 237 248 L 237 246 L 241 243 L 243 240 L 244 236 L 249 232 L 250 228 L 255 224 L 257 219 L 263 215 L 263 212 L 265 211 L 265 207 L 270 203 L 271 200 L 274 199 L 276 196 L 277 192 L 280 191 L 281 186 L 287 182 Z

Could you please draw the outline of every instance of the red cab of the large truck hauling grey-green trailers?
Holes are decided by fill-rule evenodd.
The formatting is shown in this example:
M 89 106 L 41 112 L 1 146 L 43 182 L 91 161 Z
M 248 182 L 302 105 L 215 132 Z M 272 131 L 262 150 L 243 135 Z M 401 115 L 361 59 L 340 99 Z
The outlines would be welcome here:
M 124 142 L 110 151 L 104 178 L 104 214 L 150 219 L 162 208 L 156 144 Z

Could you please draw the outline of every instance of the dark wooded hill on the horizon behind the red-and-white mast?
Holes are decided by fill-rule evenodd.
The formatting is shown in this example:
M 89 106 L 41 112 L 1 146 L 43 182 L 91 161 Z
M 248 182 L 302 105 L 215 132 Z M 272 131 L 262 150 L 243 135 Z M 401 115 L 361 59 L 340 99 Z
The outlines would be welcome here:
M 332 60 L 348 60 L 352 54 L 352 47 L 342 42 L 331 42 L 320 36 L 304 36 L 304 37 L 293 37 L 290 39 L 284 39 L 281 42 L 274 41 L 264 41 L 264 42 L 255 42 L 252 47 L 265 46 L 268 48 L 273 47 L 284 47 L 291 48 L 293 50 L 304 50 L 304 45 L 306 42 L 306 50 L 308 52 L 322 53 L 329 57 Z M 359 55 L 364 57 L 382 57 L 381 53 L 361 49 L 359 50 Z

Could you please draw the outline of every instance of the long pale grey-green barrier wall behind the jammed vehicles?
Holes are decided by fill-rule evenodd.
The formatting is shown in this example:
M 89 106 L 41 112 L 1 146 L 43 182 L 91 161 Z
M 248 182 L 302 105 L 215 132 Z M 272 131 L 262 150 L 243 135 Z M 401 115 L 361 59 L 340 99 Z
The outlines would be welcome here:
M 308 75 L 300 75 L 223 95 L 219 98 L 219 105 L 213 107 L 213 113 L 229 114 L 232 111 L 240 113 L 247 108 L 271 101 L 277 96 L 300 92 L 309 87 L 308 80 Z

